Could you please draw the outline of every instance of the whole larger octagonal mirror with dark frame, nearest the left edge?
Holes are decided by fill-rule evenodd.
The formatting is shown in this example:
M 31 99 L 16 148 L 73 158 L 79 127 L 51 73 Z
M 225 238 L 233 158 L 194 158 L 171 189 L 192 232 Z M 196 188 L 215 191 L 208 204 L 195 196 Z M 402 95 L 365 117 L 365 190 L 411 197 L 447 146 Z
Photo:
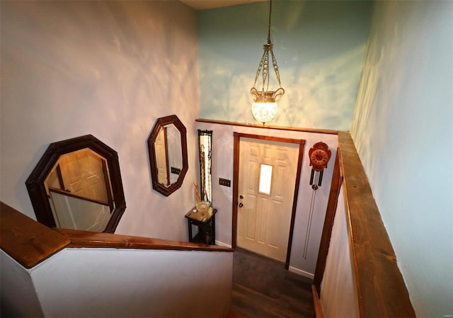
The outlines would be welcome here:
M 117 152 L 93 135 L 50 144 L 25 185 L 48 227 L 113 233 L 126 208 Z

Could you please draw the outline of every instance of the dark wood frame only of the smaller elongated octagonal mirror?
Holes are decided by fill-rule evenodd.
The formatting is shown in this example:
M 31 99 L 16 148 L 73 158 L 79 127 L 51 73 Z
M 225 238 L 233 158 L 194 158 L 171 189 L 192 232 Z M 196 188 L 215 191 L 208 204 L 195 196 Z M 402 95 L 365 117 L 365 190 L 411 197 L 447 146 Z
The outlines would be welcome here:
M 175 183 L 171 183 L 169 186 L 165 186 L 162 183 L 159 183 L 158 178 L 158 171 L 157 171 L 157 162 L 156 162 L 156 147 L 154 143 L 156 142 L 157 136 L 163 127 L 166 125 L 173 124 L 175 125 L 176 129 L 180 132 L 181 137 L 181 154 L 183 159 L 183 167 L 180 170 L 178 180 Z M 178 190 L 183 185 L 183 180 L 185 174 L 188 171 L 188 159 L 187 159 L 187 137 L 186 137 L 186 130 L 185 126 L 179 120 L 178 116 L 176 115 L 169 115 L 162 118 L 157 118 L 156 123 L 154 123 L 154 127 L 151 130 L 151 134 L 148 138 L 148 151 L 149 151 L 149 164 L 151 169 L 151 178 L 152 178 L 152 185 L 154 190 L 157 192 L 168 196 L 171 193 Z

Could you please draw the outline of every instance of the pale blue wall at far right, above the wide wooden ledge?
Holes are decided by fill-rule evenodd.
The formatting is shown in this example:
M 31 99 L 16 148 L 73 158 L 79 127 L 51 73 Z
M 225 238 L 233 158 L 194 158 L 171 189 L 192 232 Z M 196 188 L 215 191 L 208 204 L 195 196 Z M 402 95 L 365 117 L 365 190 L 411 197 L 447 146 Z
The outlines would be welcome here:
M 377 1 L 352 137 L 418 317 L 453 313 L 452 1 Z

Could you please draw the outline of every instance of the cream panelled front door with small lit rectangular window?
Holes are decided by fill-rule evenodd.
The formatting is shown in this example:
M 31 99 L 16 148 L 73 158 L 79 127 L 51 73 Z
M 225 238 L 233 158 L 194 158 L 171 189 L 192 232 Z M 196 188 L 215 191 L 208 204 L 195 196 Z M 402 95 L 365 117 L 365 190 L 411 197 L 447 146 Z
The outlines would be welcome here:
M 241 138 L 237 246 L 286 261 L 299 144 Z

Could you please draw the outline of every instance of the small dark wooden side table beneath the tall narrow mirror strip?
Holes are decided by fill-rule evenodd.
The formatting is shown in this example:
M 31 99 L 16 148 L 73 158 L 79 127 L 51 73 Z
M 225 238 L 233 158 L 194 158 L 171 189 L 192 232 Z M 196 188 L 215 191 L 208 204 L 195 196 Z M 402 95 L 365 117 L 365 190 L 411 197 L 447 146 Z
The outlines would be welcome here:
M 194 212 L 195 211 L 195 212 Z M 215 244 L 215 214 L 217 209 L 210 208 L 208 212 L 198 212 L 193 208 L 186 215 L 189 229 L 189 242 Z M 192 225 L 198 227 L 198 233 L 193 237 Z

